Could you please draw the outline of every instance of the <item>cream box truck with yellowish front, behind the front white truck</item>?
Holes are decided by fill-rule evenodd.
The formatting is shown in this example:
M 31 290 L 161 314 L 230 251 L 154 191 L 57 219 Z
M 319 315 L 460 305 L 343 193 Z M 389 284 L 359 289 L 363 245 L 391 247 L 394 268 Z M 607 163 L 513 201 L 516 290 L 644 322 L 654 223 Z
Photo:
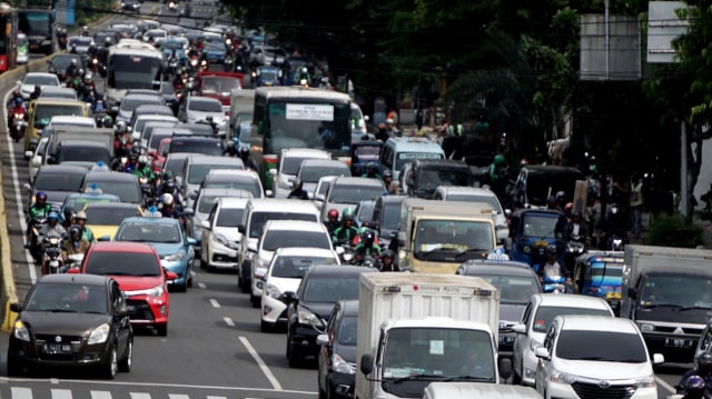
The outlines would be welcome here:
M 455 273 L 497 246 L 496 211 L 481 202 L 403 200 L 398 266 L 402 270 Z

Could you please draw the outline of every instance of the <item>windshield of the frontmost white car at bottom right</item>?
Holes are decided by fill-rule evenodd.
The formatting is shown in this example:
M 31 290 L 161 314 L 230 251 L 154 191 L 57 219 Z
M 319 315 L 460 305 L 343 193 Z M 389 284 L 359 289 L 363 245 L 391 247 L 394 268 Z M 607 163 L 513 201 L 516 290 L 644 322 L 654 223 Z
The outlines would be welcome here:
M 581 345 L 586 342 L 586 345 Z M 647 350 L 636 333 L 613 331 L 562 330 L 556 357 L 566 360 L 595 360 L 621 363 L 649 361 Z

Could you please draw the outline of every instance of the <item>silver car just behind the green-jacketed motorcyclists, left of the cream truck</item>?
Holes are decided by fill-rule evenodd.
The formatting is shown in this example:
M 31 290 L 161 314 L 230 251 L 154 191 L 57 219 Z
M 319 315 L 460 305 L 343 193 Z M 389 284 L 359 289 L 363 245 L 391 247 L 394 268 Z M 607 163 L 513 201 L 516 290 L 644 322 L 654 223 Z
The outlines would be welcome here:
M 375 200 L 385 191 L 386 187 L 380 179 L 337 177 L 324 198 L 322 220 L 326 220 L 329 209 L 336 209 L 340 215 L 344 209 L 356 209 L 358 202 Z

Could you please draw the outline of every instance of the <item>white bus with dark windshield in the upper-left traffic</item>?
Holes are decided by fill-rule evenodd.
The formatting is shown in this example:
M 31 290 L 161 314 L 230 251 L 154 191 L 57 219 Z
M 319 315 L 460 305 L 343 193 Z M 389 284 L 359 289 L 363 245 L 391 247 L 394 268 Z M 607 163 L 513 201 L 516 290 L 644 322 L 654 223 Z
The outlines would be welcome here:
M 109 47 L 107 67 L 101 70 L 109 107 L 121 103 L 129 89 L 160 91 L 164 56 L 152 44 L 121 39 Z

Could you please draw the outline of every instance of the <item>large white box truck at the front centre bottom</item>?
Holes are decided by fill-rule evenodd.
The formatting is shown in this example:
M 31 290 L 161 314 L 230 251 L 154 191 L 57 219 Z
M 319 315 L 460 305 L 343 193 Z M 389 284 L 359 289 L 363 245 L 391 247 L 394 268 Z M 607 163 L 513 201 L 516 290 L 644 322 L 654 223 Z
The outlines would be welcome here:
M 498 383 L 512 369 L 497 360 L 498 319 L 500 291 L 478 277 L 363 273 L 356 398 L 422 398 L 433 381 Z

